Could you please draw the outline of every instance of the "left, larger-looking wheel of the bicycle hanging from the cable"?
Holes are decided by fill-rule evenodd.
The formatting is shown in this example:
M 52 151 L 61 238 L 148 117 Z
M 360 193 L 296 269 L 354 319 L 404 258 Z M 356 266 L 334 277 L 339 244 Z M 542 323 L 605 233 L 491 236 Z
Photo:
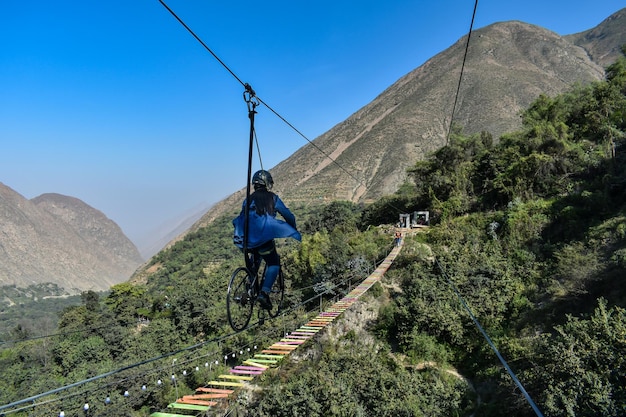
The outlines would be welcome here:
M 252 282 L 250 272 L 245 267 L 237 268 L 230 277 L 226 295 L 226 312 L 230 327 L 235 331 L 245 329 L 252 317 L 254 300 L 248 292 L 250 282 Z

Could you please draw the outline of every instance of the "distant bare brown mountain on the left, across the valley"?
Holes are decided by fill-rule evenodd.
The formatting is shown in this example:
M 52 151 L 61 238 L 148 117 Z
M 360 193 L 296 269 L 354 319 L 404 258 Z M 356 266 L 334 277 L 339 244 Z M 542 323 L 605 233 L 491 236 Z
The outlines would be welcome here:
M 0 286 L 51 282 L 74 294 L 126 281 L 142 259 L 120 227 L 81 200 L 24 198 L 0 183 Z

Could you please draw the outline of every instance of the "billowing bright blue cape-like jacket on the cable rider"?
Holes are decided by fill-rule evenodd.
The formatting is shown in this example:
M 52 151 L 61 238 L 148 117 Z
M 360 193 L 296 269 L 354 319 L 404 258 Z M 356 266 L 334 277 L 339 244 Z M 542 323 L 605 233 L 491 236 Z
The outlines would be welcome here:
M 241 213 L 233 220 L 233 226 L 235 227 L 233 243 L 239 248 L 243 248 L 245 208 L 246 200 L 242 204 Z M 302 236 L 296 228 L 296 216 L 293 215 L 276 194 L 274 194 L 274 210 L 275 213 L 280 213 L 286 221 L 277 219 L 276 214 L 273 216 L 267 213 L 263 215 L 257 214 L 254 201 L 252 201 L 248 210 L 248 249 L 258 248 L 274 238 L 291 237 L 296 240 L 302 240 Z

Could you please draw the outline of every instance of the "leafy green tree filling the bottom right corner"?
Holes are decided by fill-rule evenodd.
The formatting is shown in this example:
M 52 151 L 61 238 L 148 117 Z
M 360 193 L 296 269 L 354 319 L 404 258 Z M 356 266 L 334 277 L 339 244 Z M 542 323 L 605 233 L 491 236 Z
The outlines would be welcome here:
M 601 417 L 624 413 L 626 310 L 598 307 L 588 318 L 569 316 L 538 339 L 525 372 L 546 416 Z

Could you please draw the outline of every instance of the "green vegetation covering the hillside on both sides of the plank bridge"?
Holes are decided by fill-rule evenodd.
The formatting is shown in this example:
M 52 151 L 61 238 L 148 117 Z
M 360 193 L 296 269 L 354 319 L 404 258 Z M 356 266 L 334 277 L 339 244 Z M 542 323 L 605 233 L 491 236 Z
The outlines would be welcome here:
M 603 82 L 538 98 L 523 121 L 497 143 L 456 129 L 410 170 L 412 182 L 371 206 L 292 207 L 304 238 L 279 248 L 297 307 L 284 319 L 236 335 L 225 324 L 228 275 L 241 263 L 225 217 L 105 297 L 83 294 L 60 317 L 62 337 L 24 335 L 0 351 L 0 404 L 146 361 L 28 415 L 55 415 L 60 404 L 78 414 L 86 400 L 94 415 L 148 415 L 223 372 L 231 353 L 302 323 L 319 308 L 317 293 L 340 297 L 389 250 L 390 228 L 378 225 L 428 208 L 431 227 L 406 237 L 382 285 L 356 307 L 368 319 L 347 312 L 346 326 L 240 396 L 238 411 L 534 415 L 467 305 L 544 415 L 624 415 L 626 59 Z M 154 383 L 172 373 L 176 381 Z

